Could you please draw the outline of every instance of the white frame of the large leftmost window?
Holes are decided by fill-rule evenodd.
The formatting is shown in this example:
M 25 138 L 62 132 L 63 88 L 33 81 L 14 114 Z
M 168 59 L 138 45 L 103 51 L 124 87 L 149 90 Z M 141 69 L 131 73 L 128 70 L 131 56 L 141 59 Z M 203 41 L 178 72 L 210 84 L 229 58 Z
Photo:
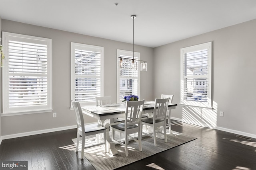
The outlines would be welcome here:
M 44 113 L 52 111 L 52 39 L 35 37 L 30 35 L 22 35 L 17 33 L 2 32 L 3 46 L 4 46 L 4 67 L 2 68 L 2 113 L 1 116 L 22 115 L 31 113 Z M 9 107 L 9 40 L 20 41 L 24 43 L 37 43 L 47 45 L 47 104 L 40 106 L 16 106 Z M 33 74 L 33 73 L 32 73 Z M 38 74 L 38 73 L 37 73 Z M 14 74 L 13 74 L 14 75 Z M 31 74 L 15 73 L 20 76 L 36 76 Z

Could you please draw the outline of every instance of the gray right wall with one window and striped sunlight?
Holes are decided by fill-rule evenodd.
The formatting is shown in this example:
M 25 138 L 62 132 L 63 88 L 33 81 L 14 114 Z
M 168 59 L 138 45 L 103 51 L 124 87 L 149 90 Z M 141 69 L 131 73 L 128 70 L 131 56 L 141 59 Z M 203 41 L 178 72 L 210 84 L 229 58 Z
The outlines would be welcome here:
M 214 109 L 178 106 L 172 117 L 255 138 L 256 20 L 154 48 L 154 97 L 174 94 L 180 103 L 180 48 L 209 41 Z

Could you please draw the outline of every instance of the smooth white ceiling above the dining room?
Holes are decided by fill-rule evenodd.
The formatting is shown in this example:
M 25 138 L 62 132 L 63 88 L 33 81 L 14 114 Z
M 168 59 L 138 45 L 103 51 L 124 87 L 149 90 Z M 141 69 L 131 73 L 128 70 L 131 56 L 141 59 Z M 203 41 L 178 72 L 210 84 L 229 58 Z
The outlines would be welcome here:
M 115 3 L 118 3 L 116 6 Z M 158 47 L 253 20 L 256 0 L 0 0 L 0 17 Z

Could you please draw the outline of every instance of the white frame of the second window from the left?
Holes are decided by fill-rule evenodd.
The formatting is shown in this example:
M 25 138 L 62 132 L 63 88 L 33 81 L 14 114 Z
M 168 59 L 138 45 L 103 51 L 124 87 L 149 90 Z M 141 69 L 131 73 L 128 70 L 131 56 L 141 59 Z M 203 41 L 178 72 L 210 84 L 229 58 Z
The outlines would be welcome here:
M 79 50 L 95 50 L 100 52 L 100 96 L 104 96 L 104 47 L 96 46 L 96 45 L 88 45 L 82 43 L 74 43 L 71 42 L 71 100 L 75 101 L 75 87 L 76 87 L 76 75 L 75 75 L 75 53 L 76 49 Z M 82 77 L 82 76 L 81 76 Z M 83 76 L 84 78 L 86 76 Z M 88 76 L 87 76 L 88 77 Z M 80 102 L 81 106 L 94 105 L 95 99 L 93 101 L 88 102 Z M 70 102 L 70 109 L 73 106 Z

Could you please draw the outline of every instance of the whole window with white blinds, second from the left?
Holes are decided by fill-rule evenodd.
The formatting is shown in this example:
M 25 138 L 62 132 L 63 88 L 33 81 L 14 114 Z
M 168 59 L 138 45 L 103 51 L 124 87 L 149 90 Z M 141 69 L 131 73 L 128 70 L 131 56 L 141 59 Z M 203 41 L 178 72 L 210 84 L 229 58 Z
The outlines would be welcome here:
M 95 104 L 103 96 L 103 47 L 71 43 L 71 100 Z

